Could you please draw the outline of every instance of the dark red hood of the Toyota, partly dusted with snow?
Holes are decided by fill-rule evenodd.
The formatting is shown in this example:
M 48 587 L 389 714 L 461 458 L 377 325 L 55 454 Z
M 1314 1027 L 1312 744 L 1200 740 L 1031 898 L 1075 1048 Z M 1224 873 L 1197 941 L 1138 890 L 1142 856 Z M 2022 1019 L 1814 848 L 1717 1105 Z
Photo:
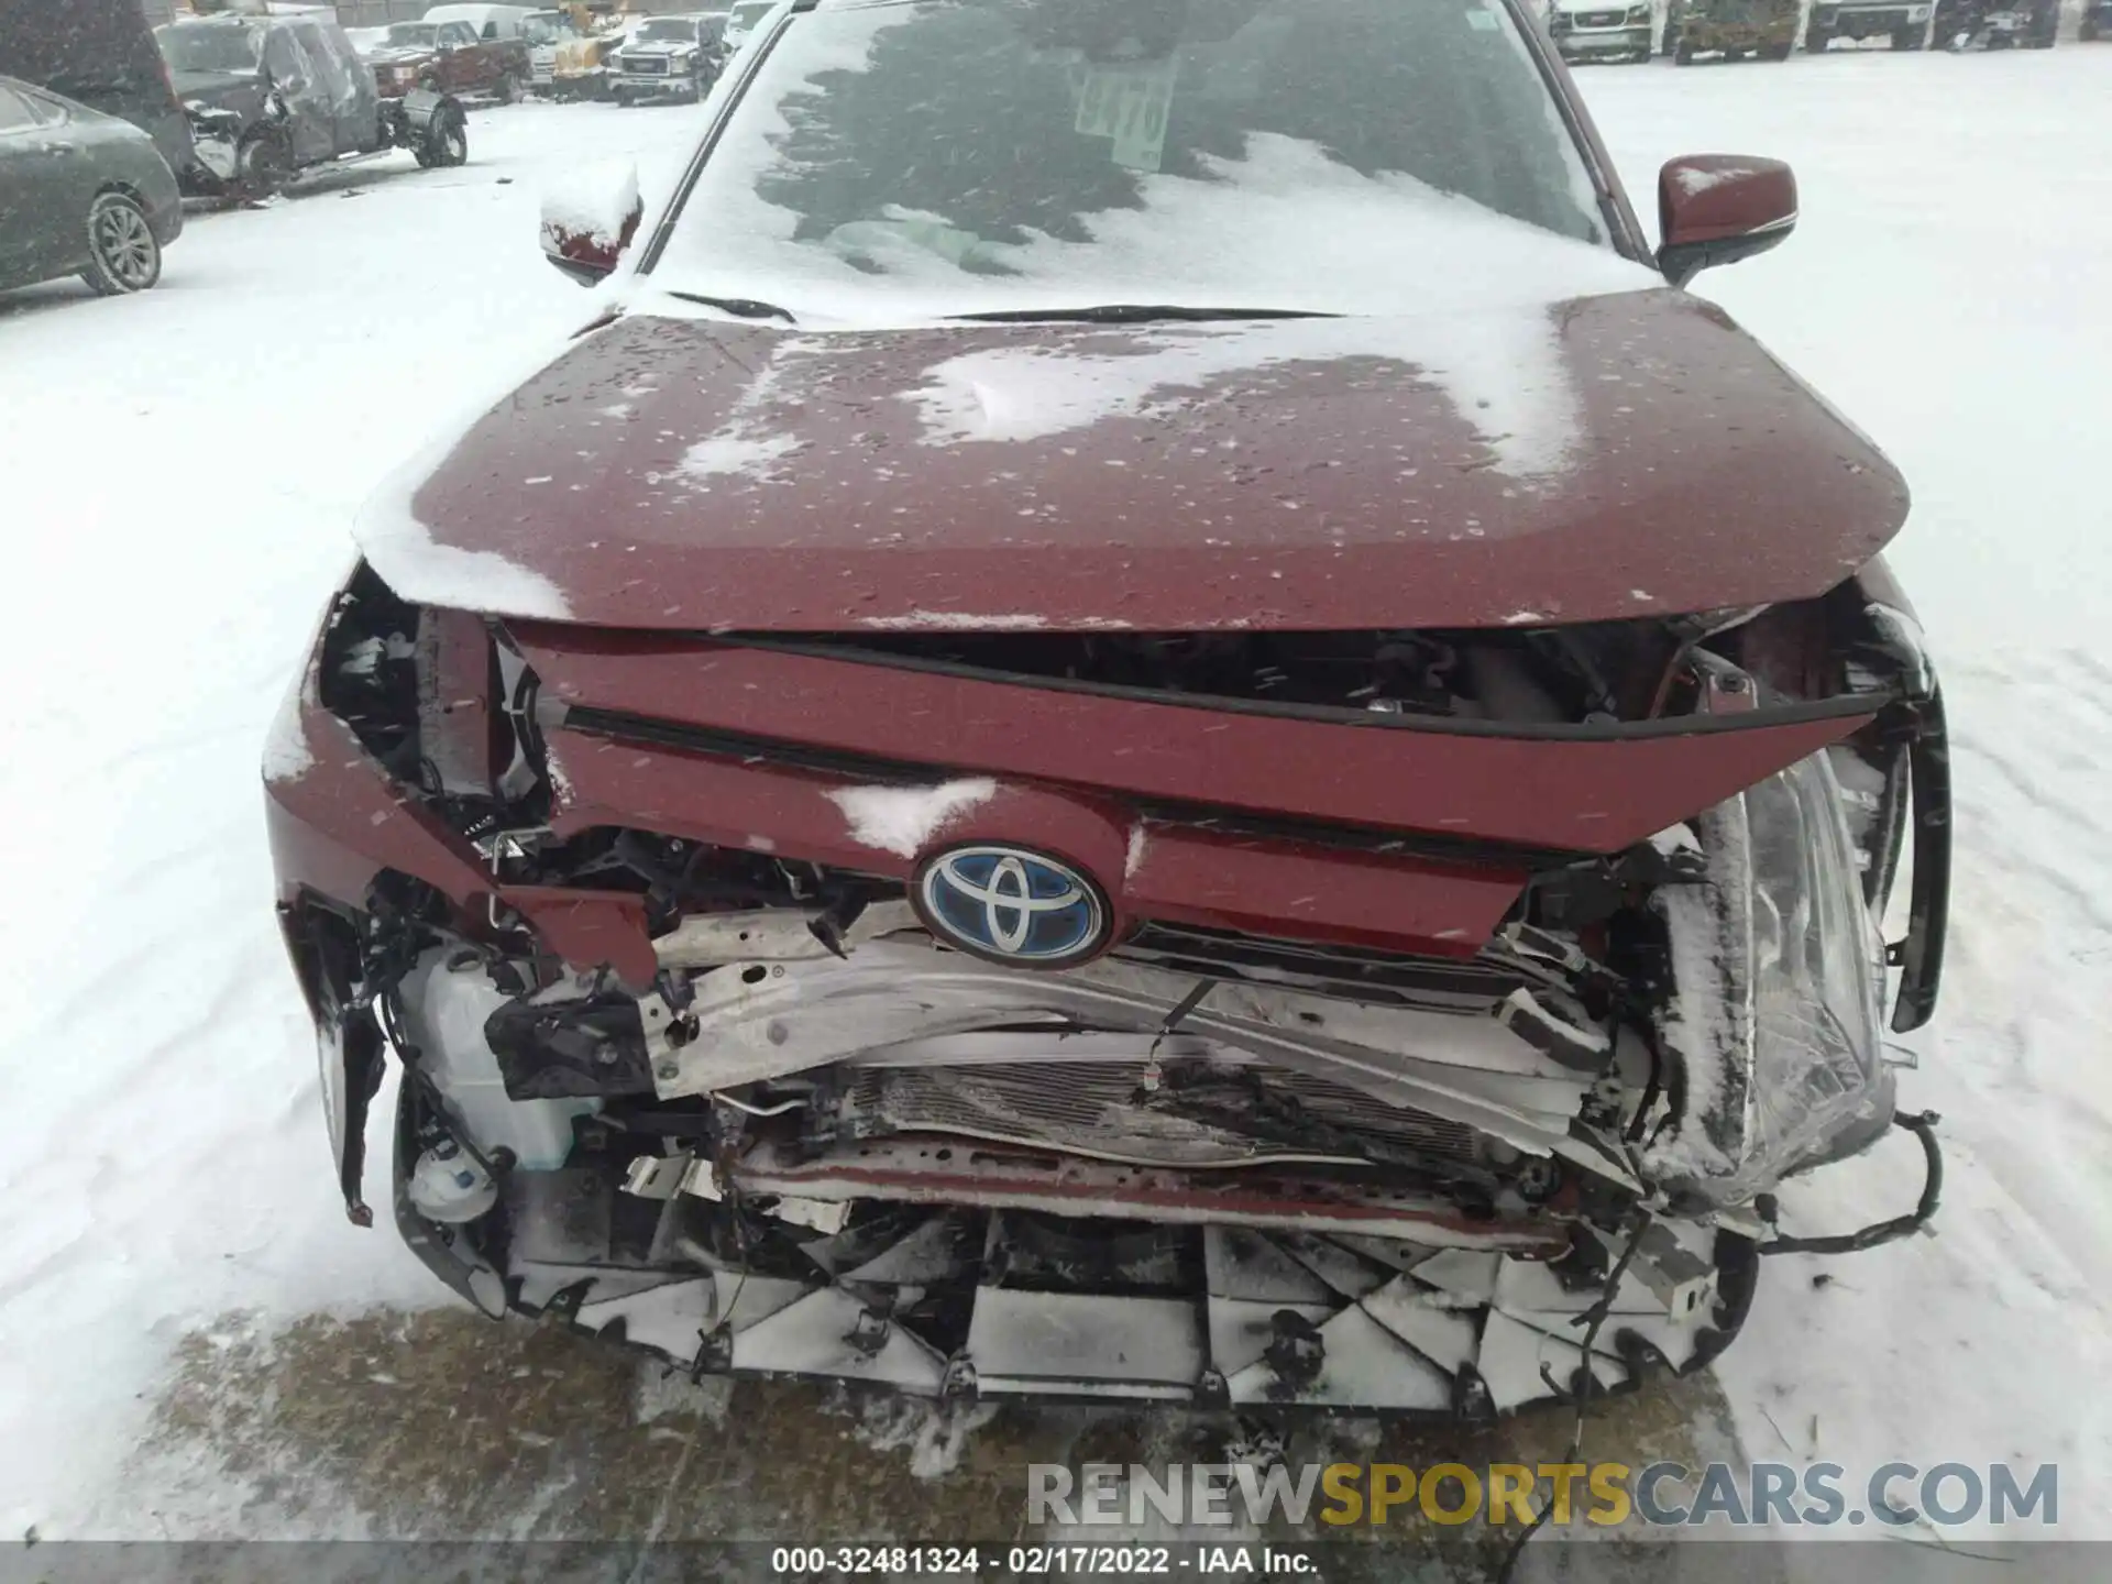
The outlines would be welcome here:
M 359 536 L 406 598 L 670 629 L 1472 627 L 1816 596 L 1886 458 L 1671 289 L 1428 319 L 627 317 Z

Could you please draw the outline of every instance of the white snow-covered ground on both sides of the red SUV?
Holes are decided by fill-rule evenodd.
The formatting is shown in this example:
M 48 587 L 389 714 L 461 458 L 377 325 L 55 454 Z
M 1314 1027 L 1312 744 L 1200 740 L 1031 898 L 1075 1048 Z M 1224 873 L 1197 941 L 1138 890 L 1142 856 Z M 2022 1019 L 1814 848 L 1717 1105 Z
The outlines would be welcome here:
M 1903 465 L 1894 564 L 1951 697 L 1951 972 L 1905 1100 L 1945 1113 L 1941 1236 L 1768 1269 L 1721 1366 L 1755 1457 L 2059 1459 L 2104 1527 L 2112 1421 L 2112 46 L 1578 74 L 1645 215 L 1677 152 L 1795 163 L 1799 234 L 1709 275 Z M 572 327 L 536 194 L 693 112 L 477 114 L 408 158 L 196 218 L 163 287 L 0 298 L 0 1533 L 158 1533 L 114 1470 L 180 1339 L 425 1305 L 336 1202 L 270 917 L 258 750 L 361 496 Z M 1901 1140 L 1903 1143 L 1903 1140 Z M 1888 1143 L 1810 1227 L 1892 1212 Z M 879 1455 L 879 1453 L 874 1453 Z M 2093 1510 L 2095 1508 L 2095 1510 Z

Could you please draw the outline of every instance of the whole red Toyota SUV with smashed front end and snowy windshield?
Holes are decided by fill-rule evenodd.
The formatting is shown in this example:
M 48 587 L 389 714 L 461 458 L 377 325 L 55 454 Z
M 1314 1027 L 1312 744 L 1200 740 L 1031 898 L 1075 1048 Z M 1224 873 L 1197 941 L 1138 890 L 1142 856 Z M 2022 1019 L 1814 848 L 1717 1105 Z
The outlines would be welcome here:
M 1658 207 L 1514 0 L 779 6 L 272 737 L 353 1219 L 393 1054 L 420 1257 L 699 1371 L 1713 1358 L 1894 1121 L 1947 775 L 1905 486 L 1683 291 L 1787 167 Z

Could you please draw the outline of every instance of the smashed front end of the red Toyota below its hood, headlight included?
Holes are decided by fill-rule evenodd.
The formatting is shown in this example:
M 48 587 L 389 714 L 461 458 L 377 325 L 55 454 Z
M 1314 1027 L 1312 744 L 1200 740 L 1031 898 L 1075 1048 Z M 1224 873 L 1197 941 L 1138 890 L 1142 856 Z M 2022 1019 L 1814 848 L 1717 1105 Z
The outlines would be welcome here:
M 967 824 L 898 851 L 855 743 L 642 722 L 619 644 L 568 665 L 549 629 L 515 648 L 416 612 L 401 640 L 325 634 L 268 809 L 346 1206 L 367 1214 L 393 1050 L 395 1219 L 420 1259 L 488 1314 L 689 1371 L 1497 1413 L 1571 1398 L 1586 1345 L 1595 1392 L 1694 1369 L 1742 1324 L 1764 1193 L 1890 1117 L 1871 919 L 1909 832 L 1894 1026 L 1932 1007 L 1941 703 L 1880 610 L 1859 663 L 1890 693 L 1854 710 L 1770 714 L 1696 661 L 1723 750 L 1639 733 L 1673 781 L 1639 796 L 1745 790 L 1599 853 L 1533 847 L 1563 811 L 1521 798 L 1491 805 L 1504 841 L 1379 838 L 1345 819 L 1375 796 L 1345 769 L 1293 819 L 1198 817 L 1117 786 L 1164 765 L 1079 756 L 1107 777 L 1081 792 L 1003 762 L 1048 741 L 1018 731 L 976 746 L 995 762 Z M 699 710 L 752 697 L 743 667 L 874 680 L 705 653 Z M 332 695 L 332 672 L 397 661 L 372 710 Z M 1592 762 L 1417 737 L 1345 733 L 1333 762 Z M 1259 786 L 1250 758 L 1217 762 L 1225 796 Z M 534 817 L 479 813 L 465 792 L 492 786 Z M 1029 828 L 1119 919 L 1060 972 L 953 950 L 912 906 L 929 849 Z

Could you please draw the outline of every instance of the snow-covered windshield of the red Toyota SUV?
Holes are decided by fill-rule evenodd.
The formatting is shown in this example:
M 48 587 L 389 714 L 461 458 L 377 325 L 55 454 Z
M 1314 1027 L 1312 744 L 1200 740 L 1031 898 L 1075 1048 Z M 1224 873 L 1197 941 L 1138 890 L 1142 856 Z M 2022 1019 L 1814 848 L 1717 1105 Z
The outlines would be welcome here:
M 895 0 L 792 19 L 655 279 L 796 315 L 1388 310 L 1493 264 L 1605 279 L 1605 241 L 1497 0 Z

